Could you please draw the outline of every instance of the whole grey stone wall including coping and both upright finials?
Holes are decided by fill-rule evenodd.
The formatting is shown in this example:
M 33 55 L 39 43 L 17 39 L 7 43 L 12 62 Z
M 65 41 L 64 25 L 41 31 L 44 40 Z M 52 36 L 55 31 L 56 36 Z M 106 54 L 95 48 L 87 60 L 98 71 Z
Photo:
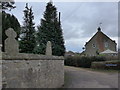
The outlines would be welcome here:
M 2 53 L 3 88 L 60 88 L 64 85 L 64 58 L 52 56 L 51 42 L 47 43 L 46 55 L 19 53 L 14 30 L 9 28 L 6 33 L 8 38 Z

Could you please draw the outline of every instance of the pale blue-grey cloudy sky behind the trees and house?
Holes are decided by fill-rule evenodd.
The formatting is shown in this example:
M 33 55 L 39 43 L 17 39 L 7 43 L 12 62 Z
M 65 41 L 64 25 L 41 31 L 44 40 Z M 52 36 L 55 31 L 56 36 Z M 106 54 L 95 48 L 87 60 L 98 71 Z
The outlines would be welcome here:
M 16 2 L 14 14 L 23 24 L 23 10 L 26 2 Z M 40 25 L 46 2 L 29 2 L 34 12 L 35 26 Z M 101 26 L 102 32 L 118 43 L 118 3 L 117 2 L 53 2 L 61 12 L 61 24 L 67 51 L 82 52 L 85 43 Z M 100 23 L 102 23 L 100 25 Z

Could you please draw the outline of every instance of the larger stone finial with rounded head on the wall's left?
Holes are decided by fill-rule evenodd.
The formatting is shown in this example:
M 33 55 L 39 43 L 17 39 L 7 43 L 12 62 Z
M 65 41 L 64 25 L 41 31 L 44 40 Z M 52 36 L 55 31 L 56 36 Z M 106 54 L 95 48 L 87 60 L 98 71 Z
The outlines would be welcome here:
M 12 28 L 9 28 L 5 33 L 8 36 L 5 40 L 5 52 L 8 54 L 19 53 L 19 45 L 15 39 L 17 37 L 16 32 Z

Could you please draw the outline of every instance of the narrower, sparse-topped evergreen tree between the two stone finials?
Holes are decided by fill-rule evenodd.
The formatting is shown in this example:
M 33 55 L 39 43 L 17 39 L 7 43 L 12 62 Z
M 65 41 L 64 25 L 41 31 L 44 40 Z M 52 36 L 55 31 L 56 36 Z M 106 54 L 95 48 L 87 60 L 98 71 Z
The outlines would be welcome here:
M 28 4 L 26 4 L 25 10 L 23 12 L 24 12 L 24 24 L 22 27 L 20 38 L 20 52 L 33 53 L 36 41 L 32 7 L 29 8 Z

